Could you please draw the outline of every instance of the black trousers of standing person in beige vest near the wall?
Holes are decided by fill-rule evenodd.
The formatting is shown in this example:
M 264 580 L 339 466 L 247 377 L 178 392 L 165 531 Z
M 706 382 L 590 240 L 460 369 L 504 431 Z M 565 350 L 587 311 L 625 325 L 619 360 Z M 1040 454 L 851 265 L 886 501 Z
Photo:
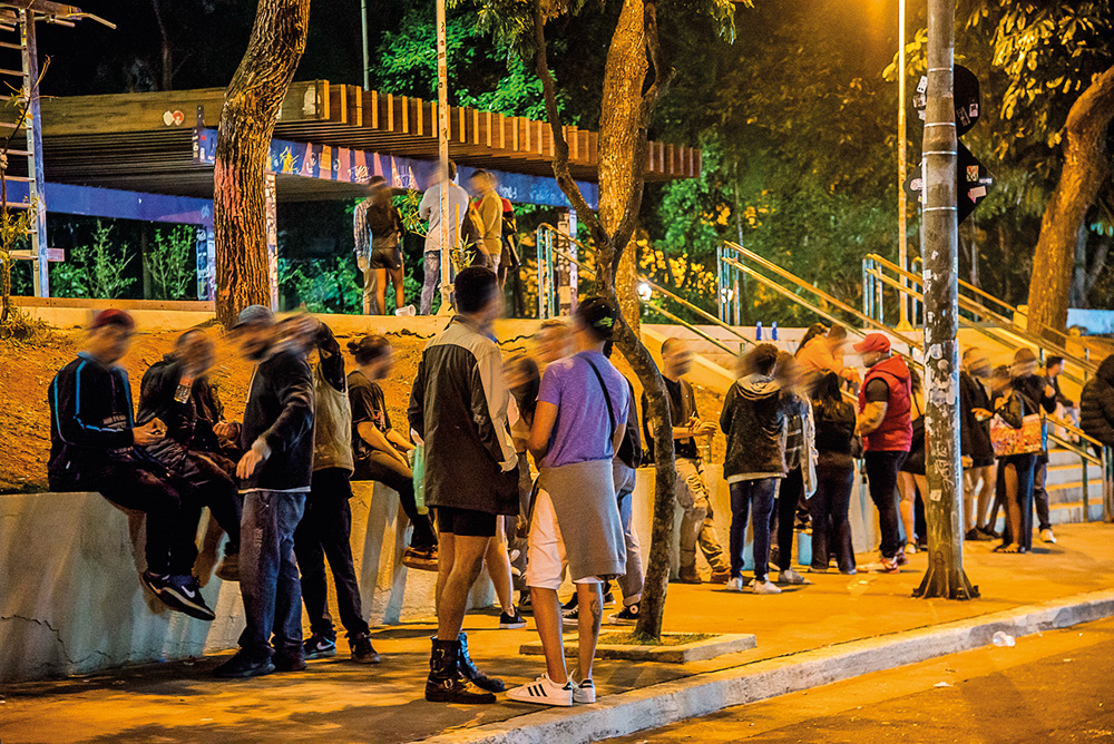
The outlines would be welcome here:
M 313 473 L 313 487 L 305 513 L 294 530 L 294 555 L 302 572 L 302 598 L 310 617 L 310 632 L 336 639 L 329 614 L 325 558 L 336 587 L 336 609 L 349 640 L 368 633 L 360 604 L 360 585 L 352 562 L 352 484 L 342 468 L 323 468 Z

